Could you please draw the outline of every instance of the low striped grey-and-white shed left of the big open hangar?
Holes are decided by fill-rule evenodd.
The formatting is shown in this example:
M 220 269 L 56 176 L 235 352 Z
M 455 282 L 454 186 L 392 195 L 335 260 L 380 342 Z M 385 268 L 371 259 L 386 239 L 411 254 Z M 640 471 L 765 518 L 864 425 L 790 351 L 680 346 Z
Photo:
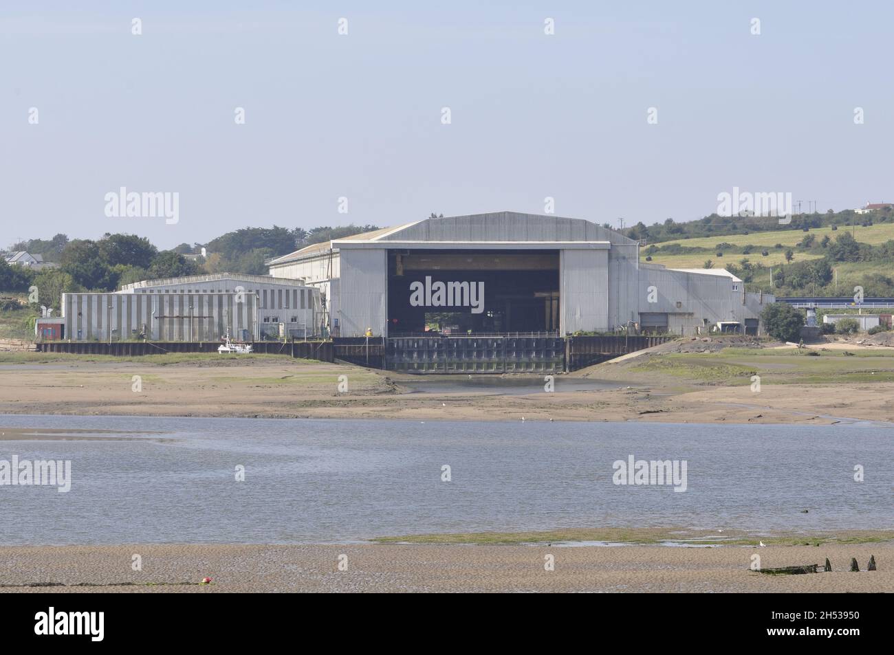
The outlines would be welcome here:
M 112 293 L 63 293 L 64 338 L 215 341 L 319 333 L 320 291 L 300 280 L 212 273 L 139 281 Z

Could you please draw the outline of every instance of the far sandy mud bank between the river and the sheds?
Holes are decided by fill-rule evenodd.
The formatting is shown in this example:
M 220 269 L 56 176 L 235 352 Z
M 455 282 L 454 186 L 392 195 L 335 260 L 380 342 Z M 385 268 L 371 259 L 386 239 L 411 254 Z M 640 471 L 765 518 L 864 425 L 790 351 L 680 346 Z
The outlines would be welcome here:
M 743 348 L 747 340 L 753 338 L 662 344 L 638 357 L 556 375 L 552 392 L 546 390 L 544 376 L 505 380 L 493 375 L 413 376 L 274 357 L 226 365 L 215 365 L 216 360 L 206 365 L 154 365 L 149 357 L 145 362 L 121 363 L 72 360 L 63 369 L 52 370 L 8 365 L 0 369 L 0 414 L 764 424 L 894 421 L 894 357 L 846 358 L 838 351 L 834 360 L 825 353 L 796 358 L 791 348 L 777 351 L 778 356 L 755 348 L 761 355 L 750 359 L 724 354 L 724 348 Z M 705 347 L 709 352 L 702 352 Z M 689 353 L 687 348 L 698 352 Z M 691 361 L 680 362 L 679 357 Z M 715 357 L 722 361 L 709 361 Z M 842 377 L 844 359 L 855 369 L 854 382 Z M 880 364 L 874 359 L 890 368 L 879 370 L 877 379 L 873 376 Z M 805 364 L 826 368 L 813 374 Z M 752 365 L 754 371 L 763 367 L 761 393 L 749 387 Z M 703 371 L 713 372 L 716 379 L 697 379 Z M 696 378 L 687 377 L 690 373 Z M 774 383 L 772 374 L 786 376 L 785 383 Z M 134 390 L 134 376 L 139 376 L 139 391 Z M 347 388 L 341 376 L 346 376 Z M 799 383 L 798 376 L 805 383 Z

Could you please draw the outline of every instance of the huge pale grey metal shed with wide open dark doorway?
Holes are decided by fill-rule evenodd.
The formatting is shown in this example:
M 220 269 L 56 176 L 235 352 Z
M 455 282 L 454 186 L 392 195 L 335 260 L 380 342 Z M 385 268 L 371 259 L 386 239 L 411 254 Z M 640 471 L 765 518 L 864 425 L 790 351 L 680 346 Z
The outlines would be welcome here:
M 640 265 L 639 244 L 583 219 L 516 212 L 428 218 L 334 239 L 269 262 L 321 290 L 333 335 L 401 336 L 435 318 L 460 332 L 693 334 L 758 330 L 772 296 L 725 271 Z M 483 299 L 476 291 L 483 290 Z

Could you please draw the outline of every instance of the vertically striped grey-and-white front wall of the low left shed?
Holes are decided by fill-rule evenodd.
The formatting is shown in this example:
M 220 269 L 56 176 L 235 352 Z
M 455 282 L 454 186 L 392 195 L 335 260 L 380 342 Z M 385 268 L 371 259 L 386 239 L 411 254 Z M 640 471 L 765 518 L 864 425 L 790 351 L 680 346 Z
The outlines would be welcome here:
M 63 293 L 65 338 L 83 341 L 138 339 L 212 341 L 227 328 L 233 338 L 257 332 L 257 298 L 235 293 Z

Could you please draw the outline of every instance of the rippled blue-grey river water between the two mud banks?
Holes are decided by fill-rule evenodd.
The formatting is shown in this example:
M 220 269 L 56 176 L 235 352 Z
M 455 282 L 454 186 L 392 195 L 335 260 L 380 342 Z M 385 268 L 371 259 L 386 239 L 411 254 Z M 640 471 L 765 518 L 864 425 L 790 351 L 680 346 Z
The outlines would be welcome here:
M 0 416 L 0 425 L 122 432 L 0 441 L 0 459 L 72 461 L 68 493 L 0 486 L 2 544 L 351 542 L 609 525 L 894 528 L 894 430 L 861 424 Z M 162 433 L 130 433 L 144 430 Z M 612 484 L 612 462 L 629 454 L 686 459 L 688 490 Z M 441 482 L 445 464 L 450 483 Z M 863 483 L 853 481 L 856 464 Z M 245 482 L 234 480 L 237 465 Z

